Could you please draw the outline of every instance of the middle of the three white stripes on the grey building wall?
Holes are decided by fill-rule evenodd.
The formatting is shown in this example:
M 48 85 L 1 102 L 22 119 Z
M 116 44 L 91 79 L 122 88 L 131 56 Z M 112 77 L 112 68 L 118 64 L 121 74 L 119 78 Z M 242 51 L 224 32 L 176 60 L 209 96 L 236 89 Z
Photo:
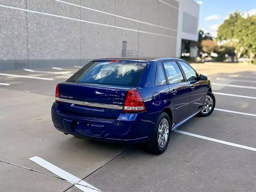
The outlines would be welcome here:
M 69 2 L 65 2 L 65 1 L 61 1 L 61 0 L 55 0 L 55 1 L 58 1 L 58 2 L 61 2 L 61 3 L 65 3 L 65 4 L 69 4 L 69 5 L 76 6 L 76 7 L 80 7 L 80 8 L 84 8 L 84 9 L 88 9 L 88 10 L 91 10 L 91 11 L 95 11 L 95 12 L 99 12 L 99 13 L 115 16 L 115 17 L 118 17 L 118 18 L 127 19 L 127 20 L 130 20 L 130 21 L 134 21 L 134 22 L 138 22 L 138 23 L 154 26 L 154 27 L 159 27 L 159 28 L 163 28 L 163 29 L 167 29 L 167 30 L 177 31 L 177 30 L 172 29 L 172 28 L 168 28 L 168 27 L 164 27 L 164 26 L 160 26 L 160 25 L 156 25 L 156 24 L 152 24 L 152 23 L 148 23 L 148 22 L 144 22 L 144 21 L 140 21 L 140 20 L 136 20 L 136 19 L 131 19 L 131 18 L 128 18 L 128 17 L 123 17 L 123 16 L 120 16 L 120 15 L 116 15 L 116 14 L 112 14 L 112 13 L 108 13 L 108 12 L 92 9 L 92 8 L 85 7 L 85 6 L 80 6 L 80 5 L 77 5 L 77 4 L 73 4 L 73 3 L 69 3 Z

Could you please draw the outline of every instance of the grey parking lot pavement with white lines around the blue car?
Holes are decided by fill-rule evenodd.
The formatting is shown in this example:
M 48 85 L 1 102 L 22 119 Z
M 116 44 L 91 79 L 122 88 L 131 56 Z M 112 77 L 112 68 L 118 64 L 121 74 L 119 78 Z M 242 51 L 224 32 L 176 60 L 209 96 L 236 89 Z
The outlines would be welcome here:
M 172 132 L 159 156 L 53 127 L 55 86 L 78 66 L 1 71 L 0 191 L 256 191 L 256 66 L 192 66 L 212 81 L 216 110 Z

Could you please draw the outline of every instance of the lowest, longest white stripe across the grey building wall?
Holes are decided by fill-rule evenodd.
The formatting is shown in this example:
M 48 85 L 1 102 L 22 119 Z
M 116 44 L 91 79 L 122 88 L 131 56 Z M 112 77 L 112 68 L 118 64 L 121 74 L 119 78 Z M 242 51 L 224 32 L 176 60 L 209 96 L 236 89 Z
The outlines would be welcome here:
M 130 28 L 113 26 L 113 25 L 107 25 L 107 24 L 103 24 L 103 23 L 86 21 L 86 20 L 81 20 L 81 19 L 76 19 L 76 18 L 70 18 L 70 17 L 60 16 L 60 15 L 55 15 L 55 14 L 50 14 L 50 13 L 32 11 L 32 10 L 28 10 L 28 9 L 22 9 L 22 8 L 11 7 L 11 6 L 6 6 L 6 5 L 0 5 L 0 7 L 10 8 L 10 9 L 15 9 L 15 10 L 21 10 L 21 11 L 26 11 L 26 12 L 31 12 L 31 13 L 37 13 L 37 14 L 42 14 L 42 15 L 54 16 L 54 17 L 58 17 L 58 18 L 64 18 L 64 19 L 80 21 L 80 22 L 85 22 L 85 23 L 90 23 L 90 24 L 96 24 L 96 25 L 101 25 L 101 26 L 106 26 L 106 27 L 111 27 L 111 28 L 116 28 L 116 29 L 123 29 L 123 30 L 128 30 L 128 31 L 133 31 L 133 32 L 140 32 L 140 33 L 151 34 L 151 35 L 162 36 L 162 37 L 168 37 L 168 38 L 176 38 L 176 37 L 170 36 L 170 35 L 164 35 L 164 34 L 152 33 L 152 32 L 147 32 L 147 31 L 142 31 L 142 30 L 137 30 L 137 29 L 130 29 Z

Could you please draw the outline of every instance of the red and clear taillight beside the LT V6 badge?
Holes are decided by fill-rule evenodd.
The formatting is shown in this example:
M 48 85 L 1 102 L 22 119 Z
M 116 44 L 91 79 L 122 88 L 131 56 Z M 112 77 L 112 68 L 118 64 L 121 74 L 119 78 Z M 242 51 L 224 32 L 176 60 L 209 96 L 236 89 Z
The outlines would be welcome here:
M 128 90 L 124 101 L 124 112 L 146 111 L 142 97 L 137 90 Z

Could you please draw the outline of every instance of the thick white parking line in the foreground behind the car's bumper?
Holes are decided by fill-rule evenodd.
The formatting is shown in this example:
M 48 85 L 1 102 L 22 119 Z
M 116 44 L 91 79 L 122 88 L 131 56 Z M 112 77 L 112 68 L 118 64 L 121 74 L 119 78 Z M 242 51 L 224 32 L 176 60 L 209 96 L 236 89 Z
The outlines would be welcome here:
M 29 159 L 34 161 L 38 165 L 46 168 L 50 172 L 53 172 L 54 174 L 60 176 L 64 180 L 67 180 L 68 182 L 74 184 L 74 186 L 76 186 L 77 188 L 79 188 L 80 190 L 82 190 L 84 192 L 96 192 L 96 191 L 101 192 L 101 190 L 99 190 L 98 188 L 96 188 L 96 187 L 92 186 L 91 184 L 81 180 L 80 178 L 62 170 L 61 168 L 58 168 L 57 166 L 51 164 L 50 162 L 48 162 L 38 156 L 34 156 Z

